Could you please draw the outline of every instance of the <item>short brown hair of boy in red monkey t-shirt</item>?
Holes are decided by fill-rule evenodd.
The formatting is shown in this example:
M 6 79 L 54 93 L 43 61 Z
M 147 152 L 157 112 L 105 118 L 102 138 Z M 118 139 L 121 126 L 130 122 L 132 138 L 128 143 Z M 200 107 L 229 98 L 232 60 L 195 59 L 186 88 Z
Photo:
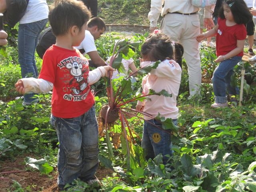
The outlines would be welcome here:
M 55 0 L 49 12 L 49 22 L 55 36 L 67 34 L 72 26 L 78 26 L 81 30 L 90 17 L 91 13 L 84 3 L 77 0 Z

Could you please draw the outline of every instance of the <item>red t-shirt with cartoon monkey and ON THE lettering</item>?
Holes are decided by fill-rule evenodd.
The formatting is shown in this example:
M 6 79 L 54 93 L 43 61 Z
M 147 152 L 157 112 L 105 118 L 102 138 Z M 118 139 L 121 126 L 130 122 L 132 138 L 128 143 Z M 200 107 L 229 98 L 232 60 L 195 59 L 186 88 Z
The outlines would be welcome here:
M 94 104 L 89 86 L 88 60 L 79 50 L 52 45 L 44 54 L 39 78 L 53 83 L 52 114 L 74 118 L 87 112 Z

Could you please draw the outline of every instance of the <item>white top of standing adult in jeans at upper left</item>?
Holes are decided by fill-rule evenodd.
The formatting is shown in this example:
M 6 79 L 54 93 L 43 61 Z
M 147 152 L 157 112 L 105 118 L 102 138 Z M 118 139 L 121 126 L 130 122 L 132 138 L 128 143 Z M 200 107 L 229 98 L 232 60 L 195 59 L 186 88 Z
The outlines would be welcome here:
M 20 24 L 32 23 L 47 19 L 49 7 L 46 0 L 30 0 L 24 16 L 20 19 Z

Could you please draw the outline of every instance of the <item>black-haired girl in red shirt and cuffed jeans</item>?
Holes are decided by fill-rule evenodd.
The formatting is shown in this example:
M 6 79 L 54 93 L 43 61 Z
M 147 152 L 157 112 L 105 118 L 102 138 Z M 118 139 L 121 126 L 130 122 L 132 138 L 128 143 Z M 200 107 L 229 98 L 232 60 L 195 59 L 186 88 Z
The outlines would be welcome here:
M 220 62 L 212 77 L 215 103 L 212 108 L 228 106 L 226 91 L 230 97 L 239 94 L 238 87 L 230 84 L 234 66 L 242 60 L 246 39 L 245 25 L 252 18 L 243 0 L 226 0 L 219 11 L 217 25 L 205 34 L 196 37 L 198 42 L 216 35 L 215 62 Z

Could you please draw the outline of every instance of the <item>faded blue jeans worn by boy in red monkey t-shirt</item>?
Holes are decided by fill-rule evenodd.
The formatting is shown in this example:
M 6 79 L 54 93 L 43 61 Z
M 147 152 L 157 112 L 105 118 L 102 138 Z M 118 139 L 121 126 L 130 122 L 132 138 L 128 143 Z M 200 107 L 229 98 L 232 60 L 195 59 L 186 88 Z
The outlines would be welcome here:
M 87 181 L 98 168 L 98 124 L 94 106 L 76 118 L 51 116 L 58 141 L 58 180 L 60 189 L 73 180 Z

